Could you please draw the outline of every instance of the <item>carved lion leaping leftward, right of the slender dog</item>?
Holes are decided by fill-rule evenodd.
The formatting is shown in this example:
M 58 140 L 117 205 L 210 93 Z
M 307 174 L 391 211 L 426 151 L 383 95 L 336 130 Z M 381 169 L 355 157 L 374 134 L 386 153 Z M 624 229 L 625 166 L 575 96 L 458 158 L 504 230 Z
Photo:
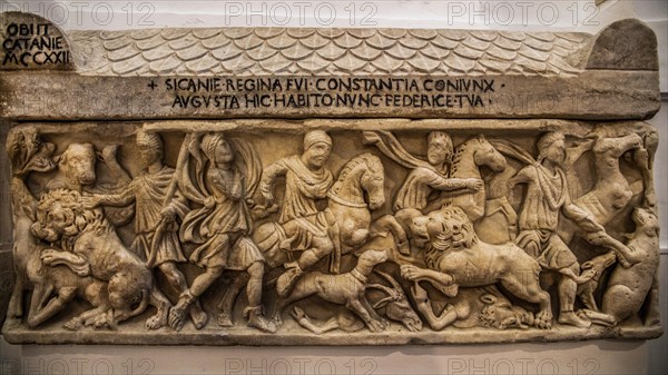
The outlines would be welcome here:
M 429 268 L 401 267 L 411 282 L 430 282 L 449 297 L 460 286 L 501 284 L 515 297 L 539 305 L 534 325 L 551 327 L 550 295 L 539 283 L 540 265 L 514 244 L 490 245 L 481 241 L 473 224 L 459 207 L 445 207 L 413 219 L 416 244 L 424 244 Z

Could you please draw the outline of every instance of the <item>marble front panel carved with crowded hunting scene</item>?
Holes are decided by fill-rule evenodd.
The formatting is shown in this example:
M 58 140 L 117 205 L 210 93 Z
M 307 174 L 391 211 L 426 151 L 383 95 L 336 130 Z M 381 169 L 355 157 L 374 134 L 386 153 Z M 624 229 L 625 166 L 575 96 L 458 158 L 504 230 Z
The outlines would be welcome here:
M 276 121 L 259 137 L 234 122 L 11 129 L 22 282 L 8 339 L 660 332 L 647 125 L 559 121 L 509 140 L 470 124 L 291 131 Z

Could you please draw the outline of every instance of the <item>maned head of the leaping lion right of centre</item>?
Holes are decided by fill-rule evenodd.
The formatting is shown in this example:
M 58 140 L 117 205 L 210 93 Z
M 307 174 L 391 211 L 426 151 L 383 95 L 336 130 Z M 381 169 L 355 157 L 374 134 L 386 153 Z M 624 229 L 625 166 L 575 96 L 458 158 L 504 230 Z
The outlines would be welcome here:
M 469 216 L 454 206 L 414 218 L 411 229 L 415 245 L 426 250 L 428 263 L 444 251 L 471 248 L 478 241 Z

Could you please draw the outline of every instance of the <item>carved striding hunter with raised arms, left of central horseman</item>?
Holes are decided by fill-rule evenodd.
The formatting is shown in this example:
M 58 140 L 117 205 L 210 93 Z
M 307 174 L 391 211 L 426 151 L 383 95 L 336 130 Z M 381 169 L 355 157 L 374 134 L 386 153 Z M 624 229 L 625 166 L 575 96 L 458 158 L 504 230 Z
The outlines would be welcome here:
M 185 145 L 186 141 L 189 145 Z M 187 308 L 229 269 L 248 274 L 248 306 L 244 310 L 248 325 L 273 333 L 276 327 L 264 317 L 262 309 L 264 258 L 248 237 L 253 224 L 247 200 L 257 186 L 258 157 L 247 145 L 236 142 L 237 147 L 233 147 L 219 132 L 186 141 L 181 149 L 187 149 L 190 156 L 180 168 L 179 184 L 188 199 L 202 208 L 186 216 L 180 234 L 184 241 L 197 245 L 190 261 L 205 272 L 180 295 L 169 314 L 169 325 L 180 329 Z M 195 164 L 194 179 L 190 177 L 190 158 Z M 230 326 L 230 310 L 223 310 L 218 324 Z

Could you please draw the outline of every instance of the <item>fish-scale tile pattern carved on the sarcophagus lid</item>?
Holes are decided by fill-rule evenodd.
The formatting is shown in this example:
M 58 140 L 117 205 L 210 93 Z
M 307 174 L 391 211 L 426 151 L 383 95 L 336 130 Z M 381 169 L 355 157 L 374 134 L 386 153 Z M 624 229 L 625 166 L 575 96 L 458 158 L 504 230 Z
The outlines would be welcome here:
M 576 75 L 577 32 L 405 29 L 72 31 L 84 75 Z M 95 53 L 95 55 L 94 55 Z

